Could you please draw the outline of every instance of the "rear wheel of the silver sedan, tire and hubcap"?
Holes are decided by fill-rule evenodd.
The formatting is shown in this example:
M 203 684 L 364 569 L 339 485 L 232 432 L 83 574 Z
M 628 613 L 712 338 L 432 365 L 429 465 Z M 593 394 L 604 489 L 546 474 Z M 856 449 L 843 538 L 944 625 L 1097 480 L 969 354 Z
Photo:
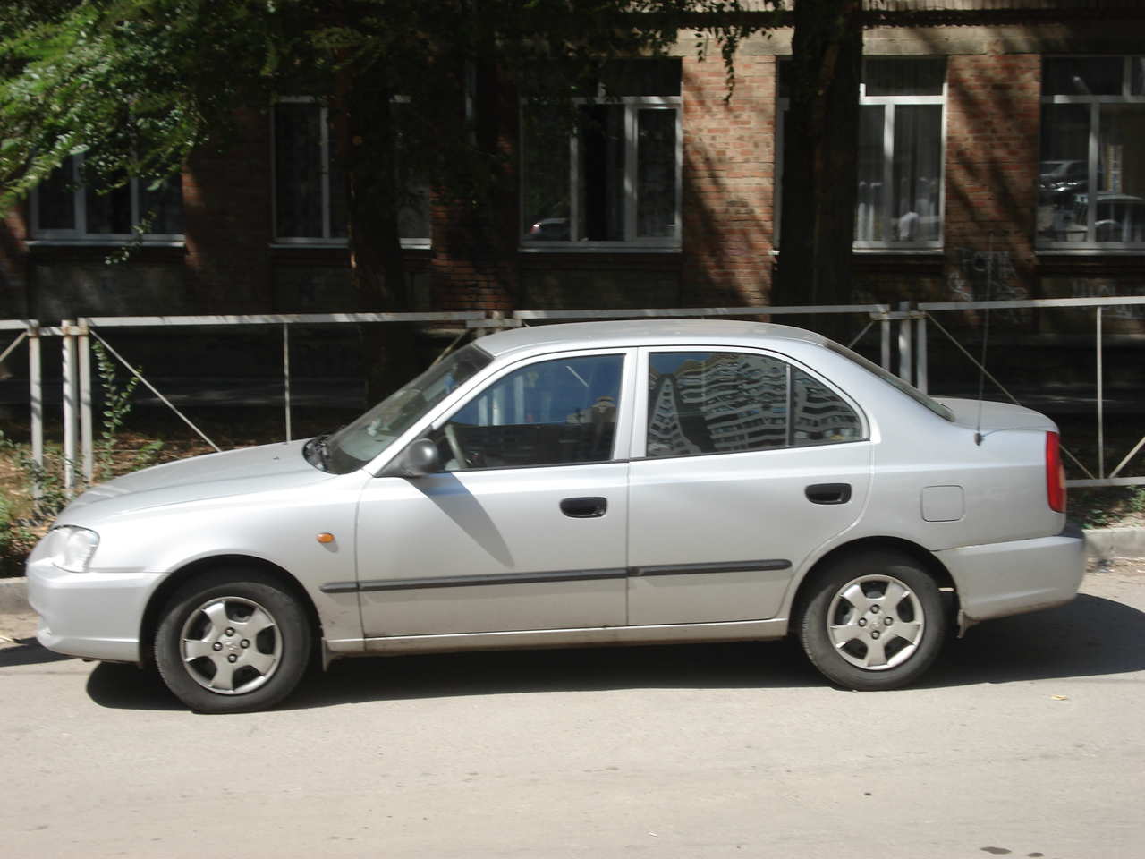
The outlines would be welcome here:
M 798 635 L 824 677 L 860 692 L 918 679 L 938 656 L 949 615 L 934 578 L 907 554 L 840 558 L 811 583 Z

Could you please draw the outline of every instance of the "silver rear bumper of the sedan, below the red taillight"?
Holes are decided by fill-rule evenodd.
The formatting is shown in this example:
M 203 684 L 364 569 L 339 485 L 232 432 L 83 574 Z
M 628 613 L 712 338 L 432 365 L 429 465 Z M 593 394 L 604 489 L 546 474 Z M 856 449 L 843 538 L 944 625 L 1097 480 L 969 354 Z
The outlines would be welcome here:
M 1072 600 L 1085 573 L 1085 536 L 1069 523 L 1053 537 L 961 546 L 935 555 L 954 578 L 962 621 L 969 625 Z

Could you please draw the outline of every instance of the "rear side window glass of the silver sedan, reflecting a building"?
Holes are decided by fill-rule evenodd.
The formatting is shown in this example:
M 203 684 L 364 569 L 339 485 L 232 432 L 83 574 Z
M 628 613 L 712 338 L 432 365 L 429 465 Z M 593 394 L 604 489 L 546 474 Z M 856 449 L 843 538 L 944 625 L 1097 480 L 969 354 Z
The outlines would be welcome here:
M 785 361 L 740 352 L 648 357 L 649 457 L 832 444 L 862 438 L 834 391 Z

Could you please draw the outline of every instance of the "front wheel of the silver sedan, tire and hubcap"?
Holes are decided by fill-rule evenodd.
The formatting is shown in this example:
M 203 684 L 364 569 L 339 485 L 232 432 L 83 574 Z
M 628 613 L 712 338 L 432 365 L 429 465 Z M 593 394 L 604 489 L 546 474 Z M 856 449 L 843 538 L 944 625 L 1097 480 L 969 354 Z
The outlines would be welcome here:
M 155 662 L 197 712 L 274 707 L 306 671 L 314 633 L 300 599 L 258 570 L 215 570 L 181 586 L 163 610 Z

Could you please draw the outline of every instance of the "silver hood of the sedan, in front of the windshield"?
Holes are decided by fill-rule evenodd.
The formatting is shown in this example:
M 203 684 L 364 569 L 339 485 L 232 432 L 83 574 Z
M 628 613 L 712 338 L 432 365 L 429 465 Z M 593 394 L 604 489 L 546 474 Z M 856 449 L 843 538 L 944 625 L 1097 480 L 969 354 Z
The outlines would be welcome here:
M 310 486 L 330 480 L 302 457 L 305 441 L 263 444 L 179 459 L 88 489 L 61 513 L 61 523 L 169 504 Z

